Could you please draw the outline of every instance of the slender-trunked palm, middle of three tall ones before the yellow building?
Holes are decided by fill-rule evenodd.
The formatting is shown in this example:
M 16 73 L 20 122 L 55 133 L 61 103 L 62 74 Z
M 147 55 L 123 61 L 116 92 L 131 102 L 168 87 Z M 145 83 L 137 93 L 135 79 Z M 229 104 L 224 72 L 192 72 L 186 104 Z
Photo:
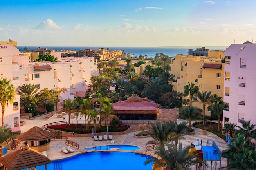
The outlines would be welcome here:
M 195 101 L 199 102 L 203 106 L 203 126 L 205 126 L 205 108 L 207 104 L 211 104 L 212 98 L 213 95 L 211 95 L 211 91 L 209 91 L 208 93 L 207 91 L 203 91 L 203 93 L 198 91 L 197 93 L 197 100 Z

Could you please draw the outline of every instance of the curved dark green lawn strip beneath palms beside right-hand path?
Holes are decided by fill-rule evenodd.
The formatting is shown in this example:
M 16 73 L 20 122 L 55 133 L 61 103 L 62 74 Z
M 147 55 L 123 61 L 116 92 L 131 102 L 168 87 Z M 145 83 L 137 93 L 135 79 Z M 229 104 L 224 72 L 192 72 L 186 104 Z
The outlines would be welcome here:
M 223 140 L 226 139 L 226 136 L 222 135 L 222 131 L 217 131 L 217 129 L 218 129 L 218 124 L 217 123 L 206 122 L 205 126 L 203 126 L 203 123 L 200 122 L 198 124 L 193 124 L 193 126 L 196 127 L 196 128 L 200 128 L 200 129 L 204 129 L 204 130 L 207 130 L 209 132 L 212 132 L 215 135 L 217 135 L 218 137 L 222 138 Z

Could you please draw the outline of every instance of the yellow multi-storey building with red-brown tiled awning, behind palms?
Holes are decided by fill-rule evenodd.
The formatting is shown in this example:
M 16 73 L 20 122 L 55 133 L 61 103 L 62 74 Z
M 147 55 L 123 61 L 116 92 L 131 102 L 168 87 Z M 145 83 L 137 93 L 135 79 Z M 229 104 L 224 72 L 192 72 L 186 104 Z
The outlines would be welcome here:
M 211 91 L 223 98 L 224 91 L 224 65 L 230 62 L 225 59 L 224 51 L 208 51 L 208 57 L 176 55 L 171 64 L 171 74 L 175 75 L 173 89 L 177 92 L 184 93 L 184 86 L 188 82 L 193 82 L 199 87 L 199 91 Z M 184 99 L 189 99 L 185 97 Z M 193 99 L 197 99 L 194 97 Z M 193 106 L 202 106 L 198 102 L 193 102 Z M 207 112 L 206 115 L 210 115 Z

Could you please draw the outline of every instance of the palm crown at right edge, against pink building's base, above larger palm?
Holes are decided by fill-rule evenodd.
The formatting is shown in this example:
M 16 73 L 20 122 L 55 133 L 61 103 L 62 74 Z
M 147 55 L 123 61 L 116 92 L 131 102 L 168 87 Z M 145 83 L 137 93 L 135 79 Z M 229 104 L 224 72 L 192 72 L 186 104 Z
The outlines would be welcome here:
M 255 139 L 256 129 L 255 124 L 251 124 L 251 121 L 244 121 L 242 127 L 236 126 L 238 129 L 235 130 L 235 135 L 241 134 L 245 136 L 245 139 Z

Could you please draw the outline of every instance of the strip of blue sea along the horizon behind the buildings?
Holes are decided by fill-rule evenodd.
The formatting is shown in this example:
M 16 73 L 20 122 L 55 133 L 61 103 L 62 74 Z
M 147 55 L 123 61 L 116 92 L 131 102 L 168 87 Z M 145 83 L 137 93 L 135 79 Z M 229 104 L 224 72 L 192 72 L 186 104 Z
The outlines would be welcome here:
M 36 50 L 38 46 L 16 46 L 20 51 L 24 51 L 24 48 L 27 47 L 28 50 Z M 205 46 L 206 49 L 209 50 L 225 50 L 228 46 Z M 40 46 L 40 48 L 47 48 L 50 50 L 71 50 L 78 52 L 82 49 L 99 49 L 109 48 L 110 51 L 112 50 L 121 50 L 128 54 L 130 53 L 131 56 L 139 57 L 139 55 L 147 56 L 147 57 L 155 57 L 156 53 L 163 53 L 168 55 L 169 57 L 173 57 L 177 54 L 188 55 L 189 49 L 196 50 L 197 48 L 201 47 L 186 47 L 186 46 L 168 46 L 168 47 L 83 47 L 83 46 Z

